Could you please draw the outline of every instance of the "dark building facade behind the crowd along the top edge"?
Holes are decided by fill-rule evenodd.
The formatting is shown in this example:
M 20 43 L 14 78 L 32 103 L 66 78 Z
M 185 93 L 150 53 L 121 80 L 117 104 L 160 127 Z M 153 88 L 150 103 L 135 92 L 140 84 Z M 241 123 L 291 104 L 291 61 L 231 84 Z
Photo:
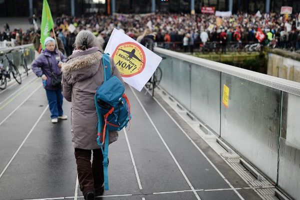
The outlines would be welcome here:
M 53 16 L 84 13 L 201 12 L 202 6 L 232 13 L 280 12 L 281 6 L 300 11 L 300 0 L 48 0 Z M 29 8 L 29 9 L 28 9 Z M 42 0 L 0 0 L 0 17 L 41 15 Z

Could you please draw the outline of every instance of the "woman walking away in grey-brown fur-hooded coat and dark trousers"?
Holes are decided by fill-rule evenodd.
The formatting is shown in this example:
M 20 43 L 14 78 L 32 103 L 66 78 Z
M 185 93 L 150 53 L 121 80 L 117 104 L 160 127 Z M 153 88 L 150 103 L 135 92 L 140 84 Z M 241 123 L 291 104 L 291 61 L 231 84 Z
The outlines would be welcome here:
M 104 79 L 102 54 L 98 40 L 88 30 L 77 34 L 74 46 L 72 55 L 62 64 L 62 93 L 66 100 L 71 101 L 71 133 L 79 187 L 84 199 L 93 200 L 104 189 L 103 155 L 96 141 L 98 118 L 94 104 L 96 89 Z M 111 58 L 110 66 L 112 75 L 123 82 Z M 109 131 L 109 143 L 117 136 L 116 131 Z

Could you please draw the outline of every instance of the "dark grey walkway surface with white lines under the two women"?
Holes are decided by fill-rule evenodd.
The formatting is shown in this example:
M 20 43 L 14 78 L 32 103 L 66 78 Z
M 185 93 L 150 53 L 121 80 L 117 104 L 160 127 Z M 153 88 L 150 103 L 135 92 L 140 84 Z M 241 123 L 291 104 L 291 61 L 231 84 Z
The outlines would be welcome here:
M 109 190 L 97 199 L 260 199 L 162 99 L 176 123 L 150 95 L 126 94 L 130 128 L 109 147 Z M 83 199 L 73 151 L 70 120 L 50 122 L 39 78 L 0 91 L 0 200 Z

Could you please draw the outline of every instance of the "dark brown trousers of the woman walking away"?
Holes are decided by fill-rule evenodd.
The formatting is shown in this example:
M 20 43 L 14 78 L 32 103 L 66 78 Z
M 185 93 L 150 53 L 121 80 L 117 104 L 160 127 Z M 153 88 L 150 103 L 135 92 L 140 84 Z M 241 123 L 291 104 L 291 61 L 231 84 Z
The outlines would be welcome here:
M 103 154 L 101 149 L 92 149 L 92 163 L 90 162 L 91 150 L 75 148 L 74 154 L 79 187 L 83 196 L 87 191 L 99 191 L 104 182 Z

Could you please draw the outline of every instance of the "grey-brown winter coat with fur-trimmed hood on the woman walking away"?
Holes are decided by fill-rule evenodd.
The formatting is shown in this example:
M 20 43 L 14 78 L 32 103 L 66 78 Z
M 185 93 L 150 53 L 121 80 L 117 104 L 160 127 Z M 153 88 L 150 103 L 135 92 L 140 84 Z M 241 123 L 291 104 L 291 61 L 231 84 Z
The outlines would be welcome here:
M 112 75 L 122 78 L 110 58 Z M 91 48 L 77 52 L 62 64 L 62 94 L 71 101 L 71 133 L 75 148 L 95 149 L 97 145 L 97 113 L 94 94 L 103 83 L 102 54 Z M 117 140 L 117 131 L 109 131 L 109 143 Z

